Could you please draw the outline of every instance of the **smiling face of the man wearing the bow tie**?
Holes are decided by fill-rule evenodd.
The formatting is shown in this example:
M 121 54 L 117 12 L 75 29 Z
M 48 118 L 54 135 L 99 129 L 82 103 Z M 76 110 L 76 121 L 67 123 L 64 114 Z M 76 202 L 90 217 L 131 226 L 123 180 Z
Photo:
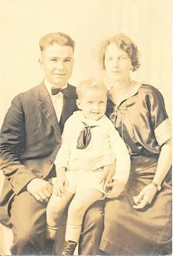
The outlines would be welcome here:
M 57 88 L 68 82 L 73 70 L 73 49 L 70 46 L 53 44 L 41 52 L 39 63 L 47 81 Z

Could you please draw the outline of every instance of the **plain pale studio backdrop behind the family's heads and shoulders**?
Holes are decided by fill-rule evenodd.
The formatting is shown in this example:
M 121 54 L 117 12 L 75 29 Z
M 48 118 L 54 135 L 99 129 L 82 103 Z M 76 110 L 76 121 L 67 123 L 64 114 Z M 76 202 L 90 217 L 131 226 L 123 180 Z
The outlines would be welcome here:
M 0 17 L 0 125 L 12 98 L 43 79 L 39 39 L 56 31 L 76 42 L 72 85 L 97 74 L 93 49 L 102 39 L 127 34 L 142 54 L 133 78 L 162 92 L 171 117 L 171 0 L 1 0 Z

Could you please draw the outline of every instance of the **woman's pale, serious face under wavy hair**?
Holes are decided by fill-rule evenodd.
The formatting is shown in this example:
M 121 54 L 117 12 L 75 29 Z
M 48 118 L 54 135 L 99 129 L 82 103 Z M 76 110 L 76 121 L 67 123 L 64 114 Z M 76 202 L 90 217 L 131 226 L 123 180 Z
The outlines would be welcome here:
M 111 43 L 105 50 L 104 66 L 107 75 L 116 81 L 129 81 L 132 62 L 129 55 Z

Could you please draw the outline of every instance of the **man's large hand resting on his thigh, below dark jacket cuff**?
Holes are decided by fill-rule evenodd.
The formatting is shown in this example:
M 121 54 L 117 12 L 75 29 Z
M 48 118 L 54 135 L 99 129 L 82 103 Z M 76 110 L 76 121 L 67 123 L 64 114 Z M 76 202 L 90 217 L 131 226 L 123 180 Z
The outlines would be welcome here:
M 47 203 L 53 192 L 52 185 L 48 181 L 41 180 L 40 178 L 31 180 L 27 185 L 27 190 L 41 203 Z

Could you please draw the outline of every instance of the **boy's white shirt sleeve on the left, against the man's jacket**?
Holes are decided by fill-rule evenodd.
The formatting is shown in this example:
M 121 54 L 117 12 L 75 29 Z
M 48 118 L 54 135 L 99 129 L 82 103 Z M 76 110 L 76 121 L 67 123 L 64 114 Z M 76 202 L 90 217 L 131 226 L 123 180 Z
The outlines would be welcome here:
M 72 143 L 72 128 L 74 125 L 73 116 L 65 122 L 65 126 L 62 133 L 62 144 L 55 159 L 56 169 L 61 167 L 68 167 L 69 157 L 71 155 L 71 143 Z

